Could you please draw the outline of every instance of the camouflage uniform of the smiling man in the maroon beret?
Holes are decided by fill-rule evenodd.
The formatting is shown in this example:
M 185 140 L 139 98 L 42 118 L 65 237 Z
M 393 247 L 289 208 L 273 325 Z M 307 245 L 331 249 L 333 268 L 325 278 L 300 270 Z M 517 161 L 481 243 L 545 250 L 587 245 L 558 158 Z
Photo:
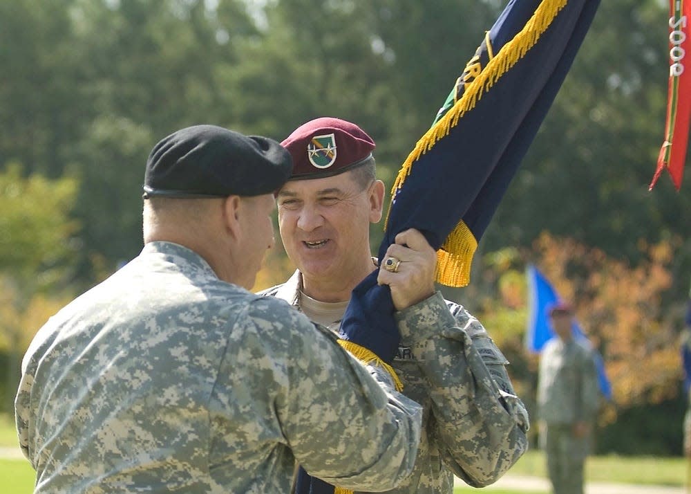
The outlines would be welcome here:
M 296 271 L 261 294 L 299 309 L 300 290 Z M 477 319 L 439 293 L 396 318 L 401 347 L 392 366 L 404 394 L 424 412 L 413 473 L 387 492 L 450 494 L 454 474 L 473 486 L 495 482 L 528 446 L 528 415 L 507 376 L 506 358 Z M 335 321 L 330 329 L 338 327 Z

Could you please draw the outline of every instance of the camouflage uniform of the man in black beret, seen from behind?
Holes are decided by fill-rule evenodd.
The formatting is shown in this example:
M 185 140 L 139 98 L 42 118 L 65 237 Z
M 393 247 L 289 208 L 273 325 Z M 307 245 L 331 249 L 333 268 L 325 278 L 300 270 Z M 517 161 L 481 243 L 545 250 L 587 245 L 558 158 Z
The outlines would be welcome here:
M 390 488 L 413 467 L 422 413 L 380 371 L 153 242 L 37 333 L 17 430 L 41 493 L 286 493 L 295 461 Z

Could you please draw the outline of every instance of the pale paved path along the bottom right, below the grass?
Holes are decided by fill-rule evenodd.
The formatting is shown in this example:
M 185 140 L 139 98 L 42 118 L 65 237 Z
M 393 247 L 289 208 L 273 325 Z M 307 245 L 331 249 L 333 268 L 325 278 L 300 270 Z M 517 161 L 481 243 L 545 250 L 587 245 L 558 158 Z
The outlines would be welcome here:
M 456 485 L 464 485 L 462 480 L 456 479 Z M 483 491 L 491 492 L 498 489 L 513 489 L 514 491 L 544 491 L 551 492 L 549 480 L 542 477 L 524 477 L 522 475 L 504 475 Z M 470 492 L 470 491 L 469 491 Z M 473 491 L 475 492 L 475 491 Z M 686 494 L 683 487 L 670 486 L 642 486 L 636 484 L 610 484 L 607 482 L 589 482 L 585 485 L 585 494 Z

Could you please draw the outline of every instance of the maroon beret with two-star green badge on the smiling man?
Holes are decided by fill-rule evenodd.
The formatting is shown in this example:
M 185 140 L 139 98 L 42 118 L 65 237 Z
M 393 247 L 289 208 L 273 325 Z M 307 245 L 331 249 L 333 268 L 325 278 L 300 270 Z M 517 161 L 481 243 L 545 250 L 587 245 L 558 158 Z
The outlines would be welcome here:
M 290 180 L 321 179 L 368 163 L 375 141 L 363 129 L 339 118 L 310 120 L 281 143 L 293 158 Z

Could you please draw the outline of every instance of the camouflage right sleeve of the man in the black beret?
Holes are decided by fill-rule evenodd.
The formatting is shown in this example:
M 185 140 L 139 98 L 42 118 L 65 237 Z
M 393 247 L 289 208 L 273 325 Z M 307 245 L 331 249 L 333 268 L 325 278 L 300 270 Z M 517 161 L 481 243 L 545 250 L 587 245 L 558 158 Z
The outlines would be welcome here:
M 263 340 L 267 352 L 285 362 L 274 403 L 296 460 L 310 475 L 343 488 L 394 488 L 415 464 L 420 405 L 395 391 L 388 372 L 361 365 L 330 331 L 287 304 L 270 313 L 258 305 L 251 317 L 272 328 L 273 343 Z

